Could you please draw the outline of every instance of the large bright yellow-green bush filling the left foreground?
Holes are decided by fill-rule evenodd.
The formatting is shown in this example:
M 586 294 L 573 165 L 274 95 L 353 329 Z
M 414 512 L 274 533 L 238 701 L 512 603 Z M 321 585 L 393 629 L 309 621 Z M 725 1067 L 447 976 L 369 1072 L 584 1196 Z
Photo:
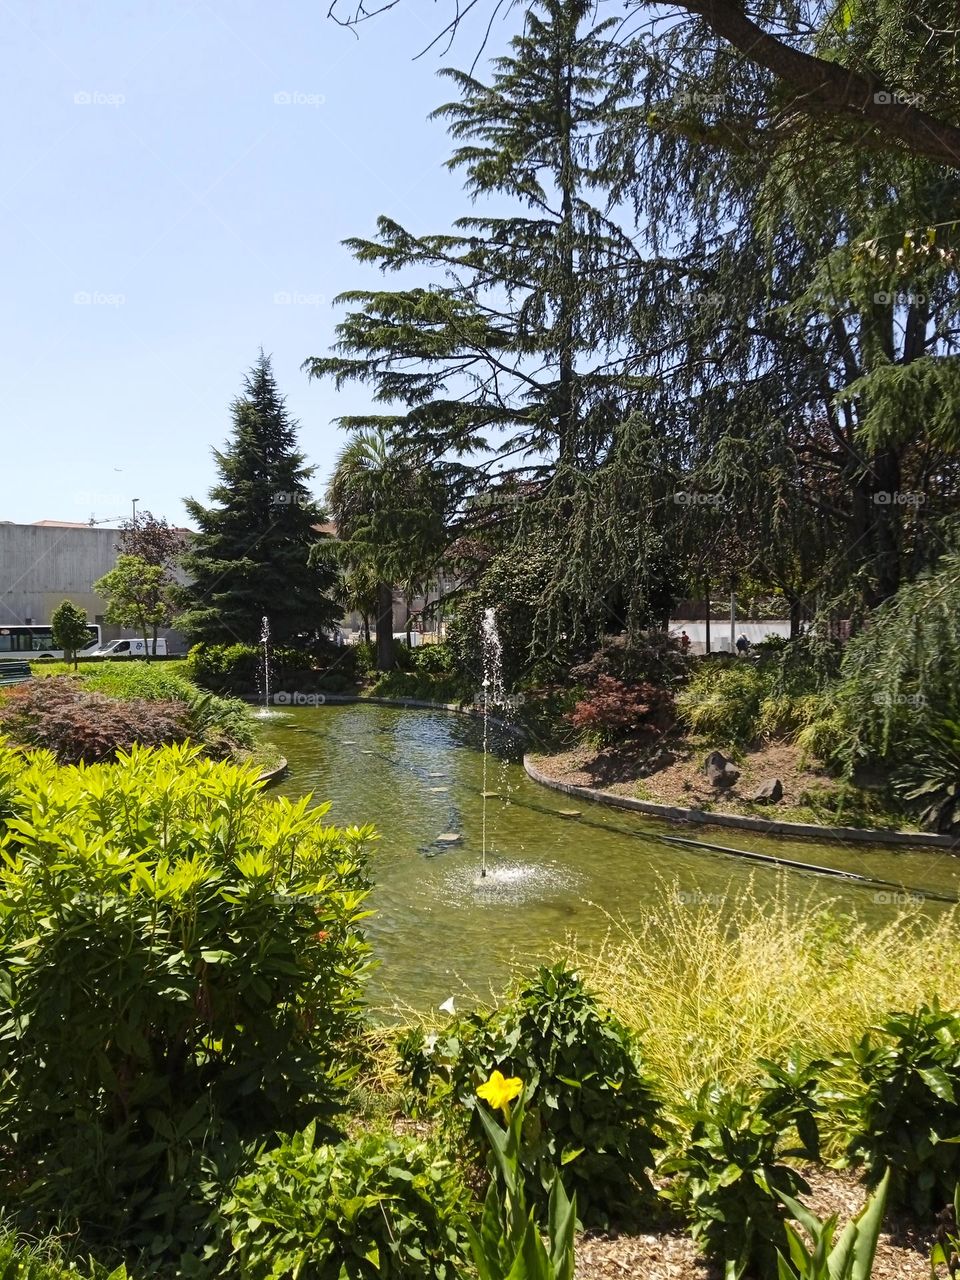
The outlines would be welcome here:
M 175 1254 L 243 1144 L 333 1124 L 371 832 L 268 799 L 257 772 L 186 748 L 8 755 L 0 1201 Z

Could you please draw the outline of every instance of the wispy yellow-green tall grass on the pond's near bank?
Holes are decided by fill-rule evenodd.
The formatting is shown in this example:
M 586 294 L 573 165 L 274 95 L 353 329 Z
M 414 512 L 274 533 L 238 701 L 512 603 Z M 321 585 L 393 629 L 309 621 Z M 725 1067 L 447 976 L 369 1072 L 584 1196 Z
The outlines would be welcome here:
M 956 910 L 905 910 L 877 927 L 831 906 L 722 902 L 660 886 L 640 928 L 612 925 L 566 956 L 643 1036 L 668 1102 L 707 1078 L 755 1080 L 758 1059 L 847 1048 L 891 1009 L 937 996 L 960 1006 Z

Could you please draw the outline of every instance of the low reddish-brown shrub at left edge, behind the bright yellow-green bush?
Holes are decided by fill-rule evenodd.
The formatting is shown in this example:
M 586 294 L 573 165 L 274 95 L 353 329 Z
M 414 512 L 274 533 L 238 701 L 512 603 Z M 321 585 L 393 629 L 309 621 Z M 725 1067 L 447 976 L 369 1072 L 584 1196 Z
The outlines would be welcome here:
M 180 701 L 122 701 L 86 692 L 70 676 L 51 676 L 0 698 L 0 733 L 22 746 L 45 746 L 61 764 L 95 764 L 136 742 L 184 741 L 191 736 L 189 709 Z

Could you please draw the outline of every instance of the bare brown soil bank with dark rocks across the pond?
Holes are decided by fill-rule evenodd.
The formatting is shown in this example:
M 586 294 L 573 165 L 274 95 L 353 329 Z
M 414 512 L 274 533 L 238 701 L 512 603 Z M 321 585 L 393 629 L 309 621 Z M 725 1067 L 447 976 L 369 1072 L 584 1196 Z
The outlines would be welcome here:
M 650 762 L 631 748 L 605 748 L 595 751 L 577 746 L 558 755 L 538 756 L 536 767 L 558 782 L 612 791 L 616 795 L 650 800 L 654 804 L 685 809 L 712 809 L 722 813 L 776 817 L 778 810 L 804 804 L 805 791 L 831 790 L 836 782 L 828 773 L 800 764 L 800 750 L 791 742 L 768 742 L 746 751 L 735 764 L 740 778 L 733 787 L 718 790 L 703 772 L 707 756 L 703 745 L 685 740 L 666 745 L 652 768 Z M 767 778 L 780 778 L 783 799 L 780 804 L 751 804 L 751 796 Z

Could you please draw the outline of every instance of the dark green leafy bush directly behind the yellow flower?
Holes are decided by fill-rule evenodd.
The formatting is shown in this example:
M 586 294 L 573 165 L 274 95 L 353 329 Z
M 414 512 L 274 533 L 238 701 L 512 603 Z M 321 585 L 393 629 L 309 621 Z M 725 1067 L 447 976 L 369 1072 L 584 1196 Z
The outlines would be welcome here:
M 477 1084 L 494 1070 L 527 1083 L 521 1161 L 527 1193 L 544 1207 L 562 1169 L 584 1222 L 630 1211 L 660 1139 L 660 1108 L 637 1041 L 603 1011 L 576 974 L 543 968 L 502 1009 L 471 1012 L 438 1038 L 413 1032 L 401 1046 L 419 1089 L 436 1082 L 456 1132 L 466 1108 L 468 1132 L 483 1143 Z

